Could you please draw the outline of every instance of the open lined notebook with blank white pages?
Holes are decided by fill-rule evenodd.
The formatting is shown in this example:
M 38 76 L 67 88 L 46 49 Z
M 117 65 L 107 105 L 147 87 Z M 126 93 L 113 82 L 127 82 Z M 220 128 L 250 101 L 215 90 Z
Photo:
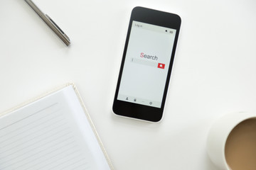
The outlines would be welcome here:
M 1 170 L 112 170 L 74 84 L 0 118 Z

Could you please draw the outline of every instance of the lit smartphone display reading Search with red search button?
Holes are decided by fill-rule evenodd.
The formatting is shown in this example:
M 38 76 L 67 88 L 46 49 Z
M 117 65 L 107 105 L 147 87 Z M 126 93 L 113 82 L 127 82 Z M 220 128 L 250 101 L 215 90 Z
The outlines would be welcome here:
M 117 100 L 161 108 L 176 30 L 132 21 Z

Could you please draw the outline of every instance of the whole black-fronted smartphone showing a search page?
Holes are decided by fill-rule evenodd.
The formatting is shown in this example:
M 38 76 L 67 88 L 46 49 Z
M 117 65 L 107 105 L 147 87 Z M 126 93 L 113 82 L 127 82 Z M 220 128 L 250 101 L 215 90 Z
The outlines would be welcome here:
M 115 114 L 161 120 L 180 27 L 181 18 L 174 13 L 133 8 L 114 95 Z

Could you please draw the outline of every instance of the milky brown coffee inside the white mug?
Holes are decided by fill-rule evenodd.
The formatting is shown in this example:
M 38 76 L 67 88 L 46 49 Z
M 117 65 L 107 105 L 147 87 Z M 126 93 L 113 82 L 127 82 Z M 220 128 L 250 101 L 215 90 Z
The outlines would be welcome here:
M 233 128 L 225 143 L 225 159 L 232 170 L 256 169 L 256 118 Z

